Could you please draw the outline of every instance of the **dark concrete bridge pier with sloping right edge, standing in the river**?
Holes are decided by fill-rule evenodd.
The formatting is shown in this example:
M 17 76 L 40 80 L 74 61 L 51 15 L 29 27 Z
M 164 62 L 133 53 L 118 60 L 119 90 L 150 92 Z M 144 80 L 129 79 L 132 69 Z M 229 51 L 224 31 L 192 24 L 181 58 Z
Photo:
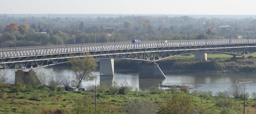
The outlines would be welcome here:
M 141 63 L 139 78 L 166 78 L 156 63 Z

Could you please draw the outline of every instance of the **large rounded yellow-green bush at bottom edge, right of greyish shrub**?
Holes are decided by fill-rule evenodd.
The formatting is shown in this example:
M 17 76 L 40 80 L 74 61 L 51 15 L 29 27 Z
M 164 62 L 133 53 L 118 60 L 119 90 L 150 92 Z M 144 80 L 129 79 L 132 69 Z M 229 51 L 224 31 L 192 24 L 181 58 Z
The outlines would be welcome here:
M 160 105 L 160 114 L 189 114 L 194 108 L 192 97 L 180 91 Z

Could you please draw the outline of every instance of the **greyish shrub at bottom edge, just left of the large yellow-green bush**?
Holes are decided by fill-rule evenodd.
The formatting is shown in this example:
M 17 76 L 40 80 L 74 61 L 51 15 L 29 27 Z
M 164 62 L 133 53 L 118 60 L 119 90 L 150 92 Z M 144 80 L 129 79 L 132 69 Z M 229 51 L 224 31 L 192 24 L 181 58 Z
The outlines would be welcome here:
M 125 112 L 127 114 L 156 114 L 157 108 L 147 100 L 128 99 L 126 100 Z

